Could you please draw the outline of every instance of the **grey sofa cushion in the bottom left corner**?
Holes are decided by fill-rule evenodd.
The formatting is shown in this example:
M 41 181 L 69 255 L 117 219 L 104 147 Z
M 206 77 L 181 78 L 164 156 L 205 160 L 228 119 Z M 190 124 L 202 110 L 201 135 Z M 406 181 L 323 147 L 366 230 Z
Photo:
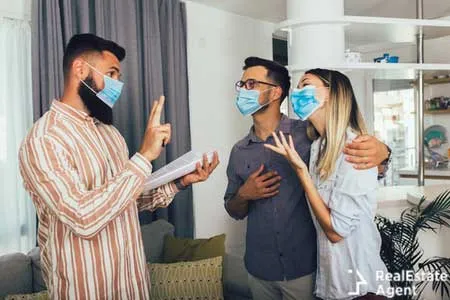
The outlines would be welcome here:
M 0 256 L 0 299 L 9 294 L 31 293 L 31 259 L 23 253 Z

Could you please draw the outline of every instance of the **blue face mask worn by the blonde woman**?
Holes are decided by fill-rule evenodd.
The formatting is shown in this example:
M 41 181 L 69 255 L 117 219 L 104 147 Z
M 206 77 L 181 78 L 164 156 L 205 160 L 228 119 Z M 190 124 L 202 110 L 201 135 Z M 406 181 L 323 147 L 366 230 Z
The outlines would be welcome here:
M 313 85 L 294 89 L 290 98 L 295 114 L 302 121 L 306 121 L 320 107 L 320 102 L 316 98 L 316 88 Z

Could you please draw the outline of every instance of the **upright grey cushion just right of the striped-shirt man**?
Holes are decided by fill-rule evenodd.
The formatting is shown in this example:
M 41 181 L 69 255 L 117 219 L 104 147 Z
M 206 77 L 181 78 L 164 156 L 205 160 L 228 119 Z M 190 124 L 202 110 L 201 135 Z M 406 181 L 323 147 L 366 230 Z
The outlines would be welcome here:
M 173 236 L 175 227 L 166 220 L 157 220 L 141 227 L 145 257 L 148 262 L 162 262 L 164 237 Z

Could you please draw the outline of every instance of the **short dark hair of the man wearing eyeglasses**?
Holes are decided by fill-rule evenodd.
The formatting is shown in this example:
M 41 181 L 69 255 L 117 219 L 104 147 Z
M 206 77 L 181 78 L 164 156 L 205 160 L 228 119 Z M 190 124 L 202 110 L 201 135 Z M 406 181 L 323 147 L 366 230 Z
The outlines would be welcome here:
M 284 98 L 289 94 L 289 88 L 291 87 L 291 76 L 289 76 L 289 71 L 277 62 L 254 56 L 245 59 L 245 65 L 242 69 L 245 71 L 248 68 L 257 66 L 266 68 L 267 77 L 281 87 L 281 102 L 283 102 Z

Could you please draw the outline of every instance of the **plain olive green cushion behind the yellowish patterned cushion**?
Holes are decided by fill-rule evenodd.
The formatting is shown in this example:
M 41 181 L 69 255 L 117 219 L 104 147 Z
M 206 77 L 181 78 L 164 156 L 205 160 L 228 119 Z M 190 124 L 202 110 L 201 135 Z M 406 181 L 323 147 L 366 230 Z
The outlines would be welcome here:
M 225 255 L 225 234 L 210 239 L 187 239 L 166 236 L 164 239 L 165 263 L 195 261 Z

